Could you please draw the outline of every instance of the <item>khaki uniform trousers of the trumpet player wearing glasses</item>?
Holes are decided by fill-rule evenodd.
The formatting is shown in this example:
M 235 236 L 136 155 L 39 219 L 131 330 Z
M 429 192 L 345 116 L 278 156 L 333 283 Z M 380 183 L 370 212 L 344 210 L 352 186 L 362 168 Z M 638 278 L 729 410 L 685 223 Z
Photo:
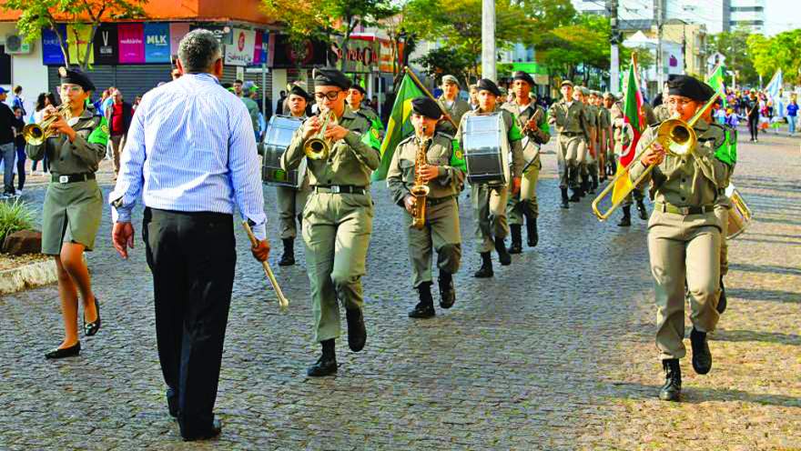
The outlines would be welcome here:
M 340 336 L 340 305 L 364 304 L 361 276 L 372 233 L 370 195 L 311 193 L 303 210 L 314 341 Z

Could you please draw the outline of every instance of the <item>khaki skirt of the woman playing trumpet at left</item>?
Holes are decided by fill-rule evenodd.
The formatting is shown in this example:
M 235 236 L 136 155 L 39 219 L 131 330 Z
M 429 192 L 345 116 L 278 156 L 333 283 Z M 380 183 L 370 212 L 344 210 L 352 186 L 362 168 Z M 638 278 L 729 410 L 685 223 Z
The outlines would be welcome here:
M 47 186 L 42 212 L 42 254 L 61 254 L 62 243 L 95 247 L 103 215 L 103 194 L 96 180 Z

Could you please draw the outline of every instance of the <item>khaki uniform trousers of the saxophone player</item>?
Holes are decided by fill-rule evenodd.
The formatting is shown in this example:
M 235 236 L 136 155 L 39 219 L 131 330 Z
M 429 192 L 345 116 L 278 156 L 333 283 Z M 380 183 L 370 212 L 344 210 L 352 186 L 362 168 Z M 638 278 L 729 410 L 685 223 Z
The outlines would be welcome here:
M 411 215 L 403 210 L 403 225 L 409 243 L 411 282 L 415 288 L 432 282 L 431 251 L 437 252 L 440 271 L 456 274 L 461 263 L 459 207 L 456 197 L 437 205 L 426 205 L 426 222 L 422 229 L 411 226 Z

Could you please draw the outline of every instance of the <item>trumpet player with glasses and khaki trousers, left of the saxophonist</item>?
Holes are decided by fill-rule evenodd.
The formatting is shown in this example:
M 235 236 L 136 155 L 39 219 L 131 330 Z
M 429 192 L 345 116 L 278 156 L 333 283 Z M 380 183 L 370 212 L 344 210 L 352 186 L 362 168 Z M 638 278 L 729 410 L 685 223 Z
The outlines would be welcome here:
M 370 122 L 345 108 L 350 80 L 339 70 L 324 68 L 316 70 L 314 84 L 321 115 L 329 117 L 312 116 L 295 132 L 281 155 L 281 166 L 289 171 L 303 158 L 308 163 L 311 193 L 303 210 L 302 233 L 313 339 L 322 346 L 322 355 L 307 374 L 329 376 L 337 372 L 338 302 L 345 307 L 350 349 L 359 352 L 367 341 L 361 276 L 372 233 L 370 174 L 379 166 L 380 156 L 369 144 Z M 324 140 L 326 150 L 316 153 L 312 140 Z

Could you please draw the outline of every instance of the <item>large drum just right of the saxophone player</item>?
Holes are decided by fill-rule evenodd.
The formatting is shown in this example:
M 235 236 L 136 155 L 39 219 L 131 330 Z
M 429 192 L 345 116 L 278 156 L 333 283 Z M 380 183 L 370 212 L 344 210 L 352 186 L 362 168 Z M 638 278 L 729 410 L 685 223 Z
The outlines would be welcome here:
M 462 145 L 469 183 L 507 185 L 512 179 L 509 140 L 500 112 L 467 116 L 464 119 Z

